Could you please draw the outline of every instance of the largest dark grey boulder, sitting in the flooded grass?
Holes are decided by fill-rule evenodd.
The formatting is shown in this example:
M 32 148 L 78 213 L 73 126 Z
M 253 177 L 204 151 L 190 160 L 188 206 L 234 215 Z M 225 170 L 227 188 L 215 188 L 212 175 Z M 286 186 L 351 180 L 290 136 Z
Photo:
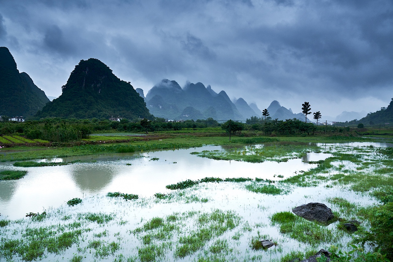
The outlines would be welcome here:
M 310 221 L 327 223 L 334 218 L 332 210 L 322 203 L 308 203 L 292 209 L 297 216 Z

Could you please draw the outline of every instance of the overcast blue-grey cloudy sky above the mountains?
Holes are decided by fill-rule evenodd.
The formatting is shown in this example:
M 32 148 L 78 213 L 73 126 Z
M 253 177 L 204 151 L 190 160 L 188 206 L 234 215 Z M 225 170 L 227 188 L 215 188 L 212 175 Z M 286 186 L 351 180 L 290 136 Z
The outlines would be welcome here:
M 0 0 L 0 46 L 48 96 L 97 58 L 145 92 L 211 85 L 301 112 L 375 112 L 393 97 L 392 0 Z

